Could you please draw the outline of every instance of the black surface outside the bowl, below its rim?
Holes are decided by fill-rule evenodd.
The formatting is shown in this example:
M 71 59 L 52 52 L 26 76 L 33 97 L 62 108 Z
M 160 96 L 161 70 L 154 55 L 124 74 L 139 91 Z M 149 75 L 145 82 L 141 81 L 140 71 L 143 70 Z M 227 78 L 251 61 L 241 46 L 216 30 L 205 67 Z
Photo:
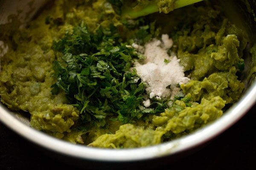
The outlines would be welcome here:
M 230 129 L 174 163 L 159 163 L 158 170 L 256 170 L 256 105 Z M 146 167 L 146 166 L 145 166 Z M 103 169 L 102 167 L 101 169 Z M 75 169 L 42 152 L 0 123 L 0 170 Z M 83 169 L 87 169 L 84 167 Z M 105 169 L 105 168 L 104 168 Z M 143 169 L 143 168 L 142 168 Z M 122 170 L 122 168 L 120 168 Z

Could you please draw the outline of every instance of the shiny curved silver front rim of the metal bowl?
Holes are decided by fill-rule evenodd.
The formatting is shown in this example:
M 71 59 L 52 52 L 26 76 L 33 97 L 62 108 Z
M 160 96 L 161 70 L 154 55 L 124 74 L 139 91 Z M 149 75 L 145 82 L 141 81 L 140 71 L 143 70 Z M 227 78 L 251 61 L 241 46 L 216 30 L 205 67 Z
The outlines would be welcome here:
M 256 102 L 256 82 L 217 121 L 206 125 L 194 133 L 149 147 L 131 149 L 106 149 L 73 144 L 35 130 L 13 116 L 1 103 L 0 121 L 20 136 L 45 149 L 66 156 L 93 161 L 141 161 L 170 156 L 189 150 L 220 135 L 244 116 Z

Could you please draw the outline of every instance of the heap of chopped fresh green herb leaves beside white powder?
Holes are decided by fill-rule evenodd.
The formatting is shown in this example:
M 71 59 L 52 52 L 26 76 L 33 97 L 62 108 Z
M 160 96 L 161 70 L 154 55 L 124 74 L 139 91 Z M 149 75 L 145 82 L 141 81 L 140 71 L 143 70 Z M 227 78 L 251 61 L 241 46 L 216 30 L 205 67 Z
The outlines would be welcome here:
M 99 28 L 95 34 L 84 26 L 67 31 L 64 38 L 53 42 L 52 49 L 62 53 L 62 61 L 54 62 L 57 82 L 52 85 L 52 94 L 63 90 L 84 123 L 102 127 L 107 116 L 133 122 L 167 108 L 160 101 L 147 108 L 150 111 L 143 107 L 145 83 L 136 69 L 130 69 L 133 59 L 140 55 L 118 35 L 114 26 Z

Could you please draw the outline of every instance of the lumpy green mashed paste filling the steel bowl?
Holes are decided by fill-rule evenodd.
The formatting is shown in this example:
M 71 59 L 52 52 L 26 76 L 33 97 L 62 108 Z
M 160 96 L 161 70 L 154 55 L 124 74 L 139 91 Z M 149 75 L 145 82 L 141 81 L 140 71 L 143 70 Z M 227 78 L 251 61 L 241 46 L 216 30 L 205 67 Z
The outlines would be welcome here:
M 8 32 L 0 33 L 9 46 L 9 51 L 1 58 L 1 102 L 10 110 L 29 112 L 32 127 L 57 138 L 91 147 L 131 148 L 160 144 L 191 133 L 218 119 L 226 108 L 238 101 L 244 84 L 237 75 L 244 69 L 242 57 L 247 45 L 247 35 L 230 23 L 220 8 L 212 7 L 206 1 L 197 4 L 197 7 L 188 6 L 169 14 L 155 13 L 134 20 L 121 19 L 117 8 L 118 5 L 111 0 L 55 0 L 35 20 L 29 22 L 26 28 L 10 28 Z M 129 68 L 133 63 L 129 57 L 135 56 L 142 60 L 143 57 L 125 45 L 133 42 L 144 45 L 152 38 L 159 38 L 161 34 L 169 34 L 172 38 L 174 45 L 171 50 L 177 54 L 185 75 L 191 79 L 186 84 L 177 85 L 180 92 L 174 99 L 168 100 L 171 104 L 163 110 L 151 108 L 155 111 L 153 113 L 149 109 L 138 109 L 142 106 L 138 104 L 138 108 L 133 111 L 143 110 L 143 114 L 138 113 L 125 119 L 126 114 L 122 112 L 106 115 L 104 111 L 112 105 L 103 101 L 101 108 L 90 105 L 89 114 L 87 104 L 92 103 L 91 101 L 87 104 L 84 102 L 82 107 L 79 102 L 73 101 L 74 98 L 82 101 L 95 95 L 73 95 L 70 99 L 67 95 L 70 91 L 67 92 L 64 85 L 61 86 L 59 77 L 56 77 L 56 63 L 61 65 L 59 69 L 62 71 L 67 70 L 70 62 L 73 63 L 73 60 L 68 60 L 72 58 L 68 58 L 67 54 L 76 54 L 79 59 L 93 56 L 97 66 L 101 64 L 97 69 L 104 70 L 106 61 L 102 59 L 99 62 L 97 58 L 110 57 L 122 49 L 122 59 L 128 63 L 125 67 Z M 103 39 L 99 35 L 104 35 Z M 104 37 L 108 38 L 104 40 Z M 86 46 L 88 44 L 85 41 L 88 39 L 91 39 L 90 46 Z M 82 43 L 83 48 L 88 48 L 87 53 L 77 52 L 83 50 L 78 44 L 69 44 L 74 40 L 79 45 Z M 99 43 L 93 45 L 96 42 Z M 112 46 L 119 43 L 118 50 L 111 48 L 111 52 L 106 51 L 107 48 L 103 47 L 108 43 Z M 93 49 L 99 52 L 90 54 Z M 125 51 L 128 51 L 127 54 Z M 88 76 L 94 73 L 93 69 L 88 66 L 81 73 Z M 106 79 L 106 72 L 104 73 L 97 74 L 93 79 L 99 79 L 99 84 Z M 135 73 L 131 75 L 134 76 Z M 72 71 L 67 75 L 71 78 L 73 75 L 74 79 L 82 76 L 73 74 Z M 113 98 L 113 94 L 119 93 L 116 87 L 119 87 L 120 81 L 113 79 L 115 88 L 107 92 L 101 91 L 100 94 L 111 101 L 111 95 Z M 91 83 L 90 87 L 97 84 Z M 80 85 L 78 86 L 81 87 Z M 133 91 L 133 87 L 131 85 L 129 89 Z M 139 85 L 136 87 L 140 89 Z M 53 89 L 58 91 L 54 92 Z M 143 97 L 142 93 L 141 96 Z M 138 103 L 143 101 L 140 97 Z M 164 102 L 159 104 L 160 101 L 154 99 L 154 103 L 158 103 L 158 107 L 163 106 Z

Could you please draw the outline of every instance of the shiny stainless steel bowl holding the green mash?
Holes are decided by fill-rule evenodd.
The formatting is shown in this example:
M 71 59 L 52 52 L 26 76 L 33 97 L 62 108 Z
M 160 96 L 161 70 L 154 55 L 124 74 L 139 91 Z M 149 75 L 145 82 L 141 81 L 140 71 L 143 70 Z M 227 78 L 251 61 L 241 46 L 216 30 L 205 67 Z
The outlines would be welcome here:
M 17 9 L 32 10 L 31 16 L 24 18 L 23 13 L 20 15 L 20 20 L 26 21 L 32 17 L 33 14 L 41 7 L 47 0 L 36 0 L 29 8 L 28 2 L 30 0 L 2 0 L 0 2 L 0 25 L 8 22 L 7 17 L 9 14 L 15 14 Z M 216 1 L 215 1 L 216 2 Z M 238 26 L 244 28 L 250 34 L 251 40 L 249 46 L 255 43 L 256 40 L 256 22 L 254 20 L 253 12 L 256 11 L 256 2 L 254 0 L 240 0 L 234 3 L 233 0 L 220 0 L 222 6 L 229 6 L 227 15 L 237 23 Z M 11 4 L 11 5 L 10 5 Z M 24 20 L 25 19 L 25 20 Z M 1 43 L 0 43 L 1 45 Z M 4 51 L 0 51 L 0 56 Z M 64 142 L 60 139 L 48 136 L 38 130 L 29 127 L 29 119 L 22 114 L 17 114 L 9 111 L 4 105 L 0 104 L 0 120 L 7 127 L 14 130 L 20 136 L 25 137 L 29 142 L 40 146 L 42 150 L 51 151 L 54 155 L 61 156 L 61 159 L 68 160 L 71 163 L 76 162 L 76 165 L 90 166 L 87 162 L 94 162 L 93 166 L 99 166 L 99 162 L 102 164 L 108 164 L 109 162 L 115 162 L 117 164 L 130 164 L 131 162 L 141 162 L 160 160 L 165 157 L 177 158 L 180 153 L 186 153 L 188 150 L 192 150 L 198 146 L 201 146 L 205 142 L 210 141 L 215 136 L 218 136 L 224 130 L 227 130 L 230 126 L 234 125 L 256 102 L 256 81 L 255 75 L 250 79 L 247 78 L 252 65 L 251 56 L 246 53 L 246 69 L 241 75 L 242 81 L 246 85 L 246 90 L 241 96 L 239 102 L 229 108 L 224 115 L 201 128 L 195 133 L 191 133 L 187 136 L 183 136 L 179 139 L 171 142 L 165 142 L 156 146 L 136 148 L 136 149 L 99 149 L 86 147 L 76 144 Z M 188 153 L 188 152 L 187 152 Z M 175 159 L 173 159 L 175 160 Z M 96 162 L 96 163 L 95 163 Z M 137 164 L 138 166 L 138 164 Z

